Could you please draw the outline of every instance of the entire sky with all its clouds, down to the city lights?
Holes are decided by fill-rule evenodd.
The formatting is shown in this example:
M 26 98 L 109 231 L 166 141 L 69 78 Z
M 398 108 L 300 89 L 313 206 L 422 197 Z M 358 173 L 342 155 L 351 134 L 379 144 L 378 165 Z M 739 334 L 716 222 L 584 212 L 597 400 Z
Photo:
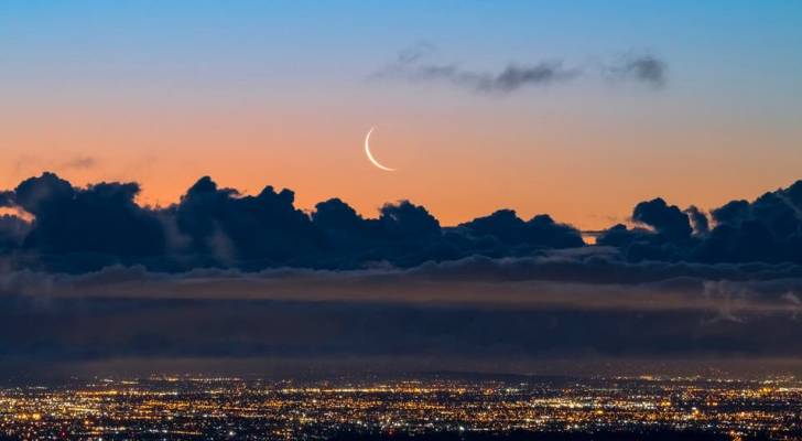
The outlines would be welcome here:
M 0 2 L 0 372 L 802 373 L 800 19 Z

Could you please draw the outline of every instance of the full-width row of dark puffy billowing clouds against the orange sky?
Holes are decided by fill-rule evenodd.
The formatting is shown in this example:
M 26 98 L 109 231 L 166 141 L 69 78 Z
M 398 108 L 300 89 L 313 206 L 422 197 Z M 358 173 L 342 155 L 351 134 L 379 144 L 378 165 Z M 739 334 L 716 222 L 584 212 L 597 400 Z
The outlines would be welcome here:
M 294 193 L 265 186 L 256 195 L 219 187 L 208 176 L 164 208 L 136 203 L 137 183 L 76 187 L 53 173 L 0 193 L 10 209 L 0 222 L 0 257 L 13 268 L 84 272 L 109 265 L 151 270 L 202 267 L 412 268 L 470 256 L 525 257 L 583 248 L 581 233 L 542 214 L 511 209 L 443 227 L 423 206 L 400 201 L 365 218 L 333 198 L 305 213 Z M 17 213 L 17 215 L 14 214 Z M 802 263 L 802 181 L 754 202 L 711 211 L 681 209 L 662 198 L 637 204 L 636 227 L 598 234 L 629 261 Z

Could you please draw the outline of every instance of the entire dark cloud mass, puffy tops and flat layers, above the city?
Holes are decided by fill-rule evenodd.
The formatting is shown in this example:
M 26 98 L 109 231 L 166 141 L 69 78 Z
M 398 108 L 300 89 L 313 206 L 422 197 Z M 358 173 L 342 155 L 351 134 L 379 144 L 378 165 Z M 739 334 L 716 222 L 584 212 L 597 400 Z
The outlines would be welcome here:
M 802 181 L 706 214 L 662 198 L 586 245 L 542 214 L 443 227 L 290 190 L 52 173 L 0 192 L 0 369 L 113 358 L 481 361 L 802 357 Z M 410 368 L 414 368 L 412 363 Z M 422 366 L 418 366 L 419 368 Z

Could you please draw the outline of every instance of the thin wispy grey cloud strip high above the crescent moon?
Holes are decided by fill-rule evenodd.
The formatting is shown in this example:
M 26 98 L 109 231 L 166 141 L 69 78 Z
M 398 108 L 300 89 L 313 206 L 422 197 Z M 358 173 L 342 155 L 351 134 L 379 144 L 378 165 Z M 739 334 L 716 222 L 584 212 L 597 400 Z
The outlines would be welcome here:
M 419 43 L 401 51 L 395 61 L 370 75 L 370 78 L 402 78 L 414 83 L 445 83 L 478 93 L 509 94 L 527 86 L 567 83 L 586 76 L 589 66 L 565 67 L 562 61 L 512 63 L 498 72 L 481 72 L 455 63 L 433 63 L 429 58 L 436 47 Z M 666 63 L 654 55 L 628 56 L 622 62 L 602 68 L 602 73 L 622 80 L 661 87 L 666 82 Z

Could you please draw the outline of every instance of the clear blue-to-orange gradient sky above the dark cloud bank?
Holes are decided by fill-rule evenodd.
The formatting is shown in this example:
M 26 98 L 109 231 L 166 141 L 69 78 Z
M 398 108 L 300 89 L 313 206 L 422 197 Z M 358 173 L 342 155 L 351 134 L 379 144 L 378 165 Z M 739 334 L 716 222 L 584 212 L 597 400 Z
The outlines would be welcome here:
M 209 174 L 368 216 L 410 198 L 446 225 L 510 207 L 602 228 L 658 195 L 711 208 L 802 178 L 801 23 L 796 1 L 3 1 L 0 186 L 51 170 L 163 205 Z M 649 54 L 666 84 L 369 78 L 421 42 L 479 72 Z M 371 126 L 398 172 L 365 159 Z

